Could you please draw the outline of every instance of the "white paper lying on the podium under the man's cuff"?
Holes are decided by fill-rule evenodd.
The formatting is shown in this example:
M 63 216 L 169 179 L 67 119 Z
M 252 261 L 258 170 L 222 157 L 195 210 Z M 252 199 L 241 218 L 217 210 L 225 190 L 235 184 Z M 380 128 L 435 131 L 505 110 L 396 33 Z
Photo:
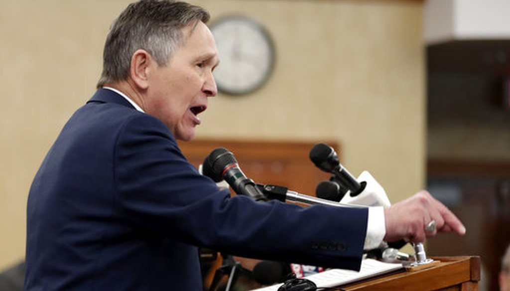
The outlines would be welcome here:
M 312 280 L 318 288 L 331 288 L 375 277 L 377 275 L 389 273 L 399 269 L 403 269 L 401 263 L 386 263 L 374 259 L 364 259 L 361 263 L 360 272 L 342 269 L 330 269 L 304 278 Z M 279 286 L 282 286 L 282 284 L 276 284 L 255 290 L 276 291 L 278 290 Z

